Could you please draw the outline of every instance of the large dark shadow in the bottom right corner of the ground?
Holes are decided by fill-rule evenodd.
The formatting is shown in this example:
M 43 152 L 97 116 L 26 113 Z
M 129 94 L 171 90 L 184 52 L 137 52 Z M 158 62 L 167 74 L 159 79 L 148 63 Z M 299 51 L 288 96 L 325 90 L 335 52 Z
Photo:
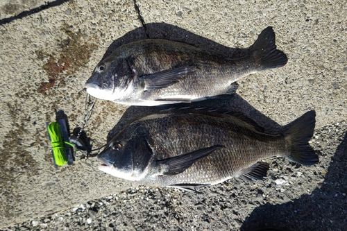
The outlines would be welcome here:
M 347 132 L 339 144 L 321 187 L 282 205 L 266 203 L 253 210 L 243 231 L 276 227 L 286 230 L 346 230 Z M 316 219 L 317 217 L 323 219 Z M 296 222 L 293 222 L 296 221 Z

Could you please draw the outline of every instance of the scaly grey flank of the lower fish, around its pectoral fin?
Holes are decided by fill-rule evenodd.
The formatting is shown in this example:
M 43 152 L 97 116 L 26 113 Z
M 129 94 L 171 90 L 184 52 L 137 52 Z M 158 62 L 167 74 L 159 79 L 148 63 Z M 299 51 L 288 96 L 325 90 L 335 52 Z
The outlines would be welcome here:
M 189 169 L 180 173 L 180 176 L 161 178 L 162 182 L 160 184 L 162 185 L 193 182 L 214 185 L 221 179 L 232 178 L 236 174 L 240 174 L 242 168 L 248 168 L 259 160 L 280 153 L 269 152 L 270 146 L 264 146 L 262 142 L 250 139 L 247 135 L 236 134 L 232 131 L 235 127 L 234 124 L 226 123 L 226 121 L 216 117 L 202 117 L 201 115 L 197 117 L 196 114 L 172 114 L 166 121 L 158 119 L 146 121 L 146 123 L 152 124 L 152 126 L 149 126 L 149 136 L 160 131 L 160 137 L 155 136 L 153 138 L 153 146 L 162 146 L 160 149 L 167 150 L 167 155 L 156 153 L 158 159 L 182 155 L 198 148 L 216 144 L 226 147 L 198 160 Z M 244 133 L 251 132 L 253 132 L 253 136 L 257 135 L 255 131 L 244 130 Z M 194 139 L 194 136 L 190 134 L 200 135 L 201 139 Z M 268 136 L 271 137 L 271 135 Z M 277 137 L 277 139 L 283 138 Z M 237 147 L 237 149 L 231 148 L 232 146 Z M 278 151 L 280 151 L 279 149 Z M 266 153 L 266 155 L 263 153 Z M 199 171 L 204 171 L 210 177 L 201 179 Z M 144 180 L 144 183 L 149 184 L 150 182 Z

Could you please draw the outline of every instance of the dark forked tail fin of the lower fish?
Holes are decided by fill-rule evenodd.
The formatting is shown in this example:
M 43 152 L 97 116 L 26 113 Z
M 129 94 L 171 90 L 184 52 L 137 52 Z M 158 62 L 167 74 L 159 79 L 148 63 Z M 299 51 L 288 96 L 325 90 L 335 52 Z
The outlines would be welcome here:
M 291 146 L 291 152 L 287 158 L 303 165 L 312 165 L 319 162 L 319 157 L 308 144 L 316 123 L 316 112 L 310 111 L 296 119 L 285 132 L 285 139 Z

